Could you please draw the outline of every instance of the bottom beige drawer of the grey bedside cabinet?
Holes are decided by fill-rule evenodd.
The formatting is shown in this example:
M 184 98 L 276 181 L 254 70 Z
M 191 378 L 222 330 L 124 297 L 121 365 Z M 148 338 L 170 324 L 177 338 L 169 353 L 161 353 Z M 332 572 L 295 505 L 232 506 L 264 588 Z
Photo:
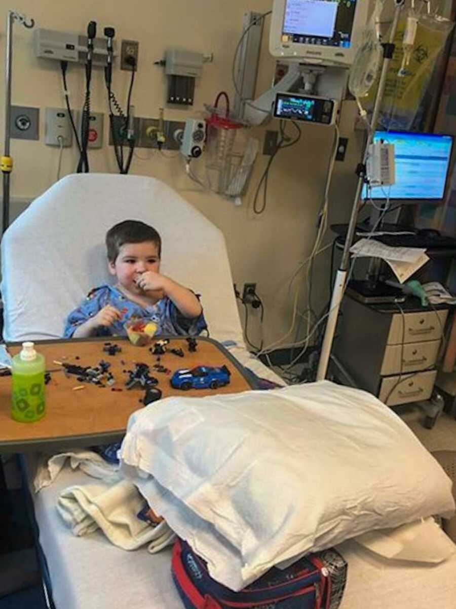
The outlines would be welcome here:
M 417 375 L 404 376 L 402 379 L 399 375 L 387 376 L 382 379 L 379 400 L 387 406 L 429 400 L 436 376 L 437 370 L 419 372 Z

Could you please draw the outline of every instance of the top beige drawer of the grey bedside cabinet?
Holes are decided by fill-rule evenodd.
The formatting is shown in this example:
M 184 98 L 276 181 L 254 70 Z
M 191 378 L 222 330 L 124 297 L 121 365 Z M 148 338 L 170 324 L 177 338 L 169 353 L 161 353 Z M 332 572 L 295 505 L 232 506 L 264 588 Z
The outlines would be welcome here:
M 406 313 L 404 317 L 401 313 L 394 314 L 387 343 L 401 345 L 402 337 L 404 343 L 441 339 L 447 315 L 448 311 Z

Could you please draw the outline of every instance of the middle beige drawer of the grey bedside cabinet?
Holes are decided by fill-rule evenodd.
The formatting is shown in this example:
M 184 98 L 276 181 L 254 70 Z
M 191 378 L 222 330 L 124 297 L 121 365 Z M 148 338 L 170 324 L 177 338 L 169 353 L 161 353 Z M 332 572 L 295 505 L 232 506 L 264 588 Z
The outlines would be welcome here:
M 382 376 L 396 375 L 401 372 L 416 372 L 432 368 L 437 361 L 440 340 L 427 340 L 420 343 L 404 345 L 388 345 L 385 348 L 380 374 Z M 402 367 L 401 367 L 402 355 Z

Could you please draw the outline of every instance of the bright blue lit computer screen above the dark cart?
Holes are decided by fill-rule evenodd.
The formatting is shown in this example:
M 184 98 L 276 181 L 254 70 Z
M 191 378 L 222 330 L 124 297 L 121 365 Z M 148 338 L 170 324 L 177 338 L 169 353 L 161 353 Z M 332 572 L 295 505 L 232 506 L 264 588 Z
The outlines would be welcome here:
M 370 189 L 364 185 L 364 199 L 443 199 L 453 146 L 451 135 L 377 131 L 374 141 L 379 140 L 395 146 L 396 181 L 392 186 Z

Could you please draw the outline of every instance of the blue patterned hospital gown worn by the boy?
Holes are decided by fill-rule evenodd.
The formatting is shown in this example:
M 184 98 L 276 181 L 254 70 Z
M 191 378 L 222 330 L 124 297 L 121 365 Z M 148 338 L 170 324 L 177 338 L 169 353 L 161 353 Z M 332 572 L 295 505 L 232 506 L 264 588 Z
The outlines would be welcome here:
M 126 336 L 123 325 L 132 317 L 140 317 L 155 322 L 158 326 L 156 334 L 198 336 L 203 330 L 207 330 L 206 320 L 202 313 L 196 319 L 188 319 L 181 314 L 167 296 L 155 305 L 143 308 L 128 300 L 117 287 L 100 286 L 91 290 L 81 305 L 68 315 L 63 337 L 71 338 L 78 326 L 94 317 L 106 305 L 116 307 L 123 312 L 123 316 L 121 320 L 113 323 L 109 328 L 100 326 L 97 330 L 97 336 Z

